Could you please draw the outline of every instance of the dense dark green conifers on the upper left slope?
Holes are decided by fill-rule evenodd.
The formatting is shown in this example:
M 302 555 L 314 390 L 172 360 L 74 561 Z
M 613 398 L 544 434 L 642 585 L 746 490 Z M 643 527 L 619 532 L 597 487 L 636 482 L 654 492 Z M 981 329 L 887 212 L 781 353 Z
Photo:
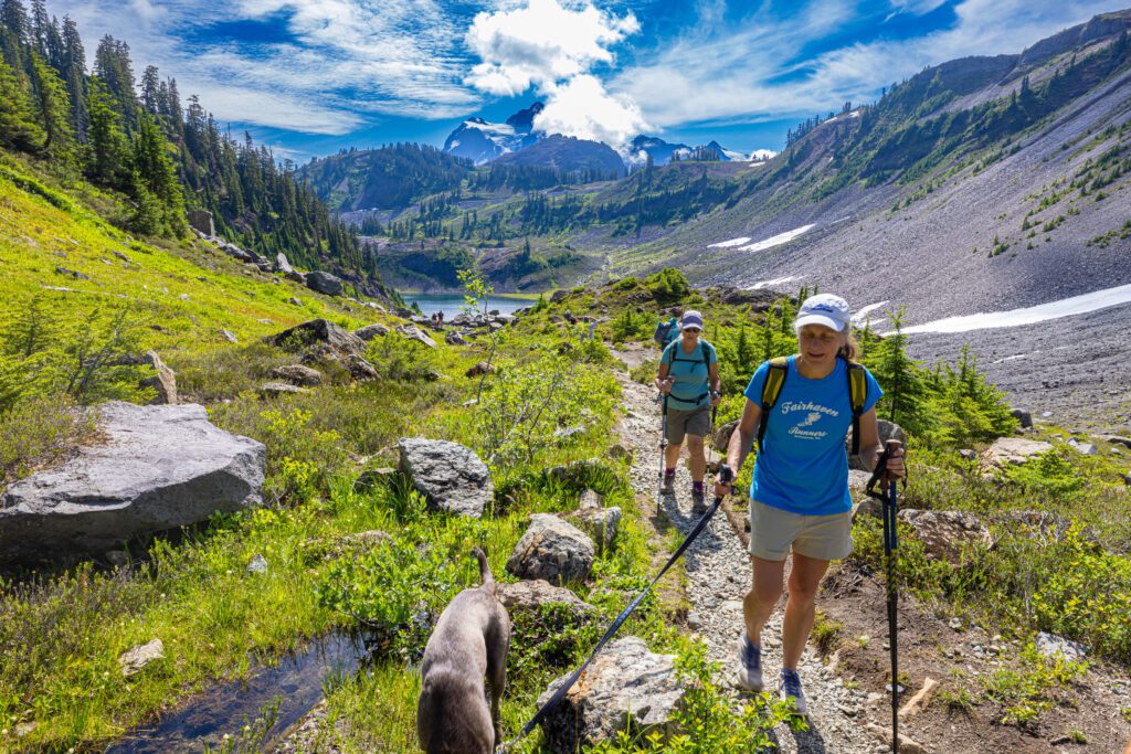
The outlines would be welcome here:
M 0 5 L 0 148 L 40 161 L 77 191 L 88 181 L 100 208 L 131 233 L 184 237 L 185 209 L 207 209 L 217 233 L 304 268 L 373 277 L 347 225 L 333 217 L 294 166 L 221 131 L 199 97 L 182 103 L 176 79 L 148 66 L 138 80 L 129 45 L 98 41 L 94 70 L 74 19 L 44 0 Z

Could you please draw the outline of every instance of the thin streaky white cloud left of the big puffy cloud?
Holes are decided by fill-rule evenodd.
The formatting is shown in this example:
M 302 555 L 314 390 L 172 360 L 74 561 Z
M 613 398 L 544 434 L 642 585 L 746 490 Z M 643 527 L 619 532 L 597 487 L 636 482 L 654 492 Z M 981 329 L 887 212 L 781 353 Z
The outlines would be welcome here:
M 104 34 L 130 44 L 135 70 L 157 66 L 219 119 L 342 135 L 366 114 L 444 119 L 482 96 L 461 81 L 463 25 L 440 0 L 52 0 L 93 60 Z M 208 27 L 279 23 L 280 42 L 209 41 Z M 123 23 L 128 21 L 128 23 Z M 202 42 L 185 43 L 197 31 Z

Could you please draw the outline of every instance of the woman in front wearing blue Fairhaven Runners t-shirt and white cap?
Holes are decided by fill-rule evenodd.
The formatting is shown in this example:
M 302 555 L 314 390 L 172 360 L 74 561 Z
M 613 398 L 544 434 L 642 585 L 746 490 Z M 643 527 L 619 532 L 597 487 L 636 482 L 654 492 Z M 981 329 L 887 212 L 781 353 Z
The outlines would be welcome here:
M 750 554 L 753 584 L 743 600 L 745 632 L 739 651 L 739 685 L 762 688 L 762 629 L 782 596 L 785 558 L 793 553 L 789 596 L 782 626 L 778 693 L 794 697 L 808 714 L 797 676 L 813 627 L 817 588 L 830 561 L 852 553 L 852 499 L 845 435 L 854 427 L 854 449 L 874 469 L 880 443 L 875 402 L 883 392 L 858 364 L 848 303 L 820 294 L 797 313 L 797 354 L 763 363 L 746 387 L 746 405 L 731 436 L 727 465 L 742 462 L 757 439 L 750 485 Z M 904 476 L 904 451 L 888 460 L 888 476 Z M 731 485 L 715 485 L 717 495 Z

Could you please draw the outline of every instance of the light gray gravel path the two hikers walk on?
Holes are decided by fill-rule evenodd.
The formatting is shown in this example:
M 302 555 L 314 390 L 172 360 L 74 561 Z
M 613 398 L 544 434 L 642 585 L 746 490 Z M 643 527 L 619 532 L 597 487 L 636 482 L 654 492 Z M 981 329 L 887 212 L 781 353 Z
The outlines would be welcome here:
M 622 440 L 634 450 L 632 487 L 637 495 L 656 499 L 659 474 L 659 410 L 655 391 L 619 374 L 627 415 Z M 691 515 L 691 476 L 681 462 L 674 494 L 661 500 L 667 520 L 681 531 L 689 531 L 697 519 Z M 742 632 L 742 598 L 750 588 L 750 558 L 742 541 L 722 512 L 688 549 L 689 624 L 707 643 L 710 657 L 723 664 L 724 686 L 733 684 L 739 638 Z M 763 634 L 763 667 L 767 684 L 772 684 L 782 667 L 782 609 L 770 619 Z M 810 729 L 794 734 L 786 726 L 775 731 L 782 752 L 801 754 L 886 752 L 887 748 L 863 729 L 865 694 L 845 688 L 839 677 L 828 671 L 817 652 L 809 648 L 798 668 L 810 705 Z

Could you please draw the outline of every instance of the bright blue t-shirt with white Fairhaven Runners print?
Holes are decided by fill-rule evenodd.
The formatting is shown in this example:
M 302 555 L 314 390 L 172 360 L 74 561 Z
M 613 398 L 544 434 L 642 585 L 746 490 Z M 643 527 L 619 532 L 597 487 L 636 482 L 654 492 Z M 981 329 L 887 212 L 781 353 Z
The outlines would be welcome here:
M 852 510 L 845 436 L 852 426 L 847 365 L 843 358 L 820 380 L 802 376 L 789 357 L 789 371 L 770 410 L 765 452 L 754 463 L 750 499 L 803 515 L 831 515 Z M 754 372 L 743 395 L 757 405 L 769 362 Z M 863 414 L 880 400 L 875 378 L 864 370 L 867 397 Z

